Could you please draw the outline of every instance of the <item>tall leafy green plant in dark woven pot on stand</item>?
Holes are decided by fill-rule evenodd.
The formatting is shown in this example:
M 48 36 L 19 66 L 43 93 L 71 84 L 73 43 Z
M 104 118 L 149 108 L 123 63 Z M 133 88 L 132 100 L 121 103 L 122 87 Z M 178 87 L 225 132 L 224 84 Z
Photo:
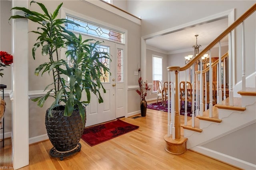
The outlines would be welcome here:
M 14 7 L 12 10 L 21 10 L 22 15 L 11 16 L 10 19 L 27 18 L 38 23 L 39 27 L 31 31 L 38 35 L 37 42 L 32 48 L 32 56 L 36 58 L 36 49 L 42 47 L 43 57 L 48 56 L 48 62 L 40 64 L 35 74 L 52 75 L 52 83 L 45 88 L 46 94 L 33 99 L 42 107 L 49 97 L 54 98 L 54 102 L 46 111 L 46 130 L 53 148 L 50 155 L 60 157 L 68 156 L 80 151 L 79 140 L 86 122 L 85 107 L 90 103 L 90 94 L 94 93 L 98 97 L 98 102 L 102 103 L 100 88 L 105 89 L 101 83 L 103 74 L 109 72 L 108 67 L 102 64 L 102 59 L 110 59 L 109 54 L 100 52 L 97 45 L 99 41 L 82 40 L 82 36 L 76 36 L 68 31 L 66 24 L 78 24 L 57 18 L 62 3 L 51 14 L 42 3 L 36 3 L 42 9 L 42 13 L 31 11 L 23 7 Z M 92 42 L 93 43 L 89 43 Z M 60 49 L 66 49 L 66 58 L 60 58 Z M 83 92 L 86 92 L 87 99 L 82 100 Z M 65 155 L 66 153 L 66 155 Z

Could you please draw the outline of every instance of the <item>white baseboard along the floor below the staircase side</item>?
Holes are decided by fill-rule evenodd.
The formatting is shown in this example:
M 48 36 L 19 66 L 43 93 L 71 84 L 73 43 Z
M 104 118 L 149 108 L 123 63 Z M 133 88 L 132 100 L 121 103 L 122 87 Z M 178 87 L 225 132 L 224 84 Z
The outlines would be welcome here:
M 196 152 L 199 152 L 201 154 L 207 155 L 211 158 L 214 158 L 216 160 L 220 160 L 221 162 L 226 162 L 230 165 L 242 168 L 242 169 L 256 169 L 255 164 L 251 164 L 249 162 L 246 162 L 244 160 L 240 160 L 238 158 L 234 158 L 232 156 L 222 154 L 220 152 L 216 152 L 214 150 L 210 150 L 208 148 L 202 147 L 202 146 L 195 146 L 193 148 L 190 148 L 190 150 L 194 150 Z

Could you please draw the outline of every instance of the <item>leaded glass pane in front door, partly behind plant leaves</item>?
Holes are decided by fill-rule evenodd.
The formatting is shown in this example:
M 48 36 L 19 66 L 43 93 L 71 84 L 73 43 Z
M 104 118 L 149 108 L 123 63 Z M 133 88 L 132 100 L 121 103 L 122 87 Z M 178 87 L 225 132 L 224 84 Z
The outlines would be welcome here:
M 110 47 L 108 47 L 106 45 L 97 45 L 96 48 L 97 48 L 97 51 L 99 51 L 99 52 L 109 53 L 109 51 L 110 51 Z M 102 55 L 104 55 L 104 54 L 101 54 L 100 56 L 102 56 Z M 100 58 L 99 60 L 106 67 L 110 68 L 110 59 Z M 100 82 L 102 82 L 102 83 L 110 83 L 110 73 L 106 72 L 106 74 L 104 74 L 104 70 L 103 69 L 101 69 L 101 73 L 103 75 L 100 77 Z

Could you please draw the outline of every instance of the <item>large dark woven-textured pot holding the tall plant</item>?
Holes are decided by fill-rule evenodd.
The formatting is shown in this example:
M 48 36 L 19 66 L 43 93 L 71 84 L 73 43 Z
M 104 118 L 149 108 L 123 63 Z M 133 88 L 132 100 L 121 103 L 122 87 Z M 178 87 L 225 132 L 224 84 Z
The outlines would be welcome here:
M 70 117 L 64 116 L 65 106 L 52 110 L 52 117 L 46 111 L 45 125 L 48 137 L 57 151 L 67 152 L 74 149 L 83 134 L 85 122 L 82 121 L 78 110 L 74 110 Z

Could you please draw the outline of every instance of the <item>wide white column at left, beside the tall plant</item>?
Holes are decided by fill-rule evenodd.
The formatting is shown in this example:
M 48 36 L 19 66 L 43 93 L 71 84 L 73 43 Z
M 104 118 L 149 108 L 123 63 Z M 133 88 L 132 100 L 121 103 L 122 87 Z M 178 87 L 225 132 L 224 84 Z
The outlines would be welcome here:
M 13 0 L 12 7 L 28 8 L 28 0 Z M 12 15 L 22 15 L 12 10 Z M 28 20 L 14 19 L 12 22 L 12 153 L 14 169 L 29 163 L 28 152 Z

